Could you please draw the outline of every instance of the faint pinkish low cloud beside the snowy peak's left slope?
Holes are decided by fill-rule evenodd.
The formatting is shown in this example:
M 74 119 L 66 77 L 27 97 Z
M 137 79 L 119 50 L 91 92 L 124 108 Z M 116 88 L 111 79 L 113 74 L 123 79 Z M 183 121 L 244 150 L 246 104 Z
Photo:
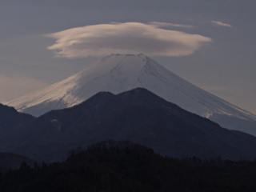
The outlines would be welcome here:
M 47 86 L 46 82 L 42 82 L 35 78 L 24 76 L 7 76 L 0 74 L 0 102 L 9 102 L 14 98 L 19 98 L 29 92 L 42 89 Z

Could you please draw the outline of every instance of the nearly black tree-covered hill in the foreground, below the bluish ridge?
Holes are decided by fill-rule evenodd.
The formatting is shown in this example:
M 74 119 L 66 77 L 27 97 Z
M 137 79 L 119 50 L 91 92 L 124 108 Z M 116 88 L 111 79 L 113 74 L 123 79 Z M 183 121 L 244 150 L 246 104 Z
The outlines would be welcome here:
M 255 191 L 256 162 L 164 158 L 133 142 L 100 142 L 65 162 L 0 174 L 1 192 Z

